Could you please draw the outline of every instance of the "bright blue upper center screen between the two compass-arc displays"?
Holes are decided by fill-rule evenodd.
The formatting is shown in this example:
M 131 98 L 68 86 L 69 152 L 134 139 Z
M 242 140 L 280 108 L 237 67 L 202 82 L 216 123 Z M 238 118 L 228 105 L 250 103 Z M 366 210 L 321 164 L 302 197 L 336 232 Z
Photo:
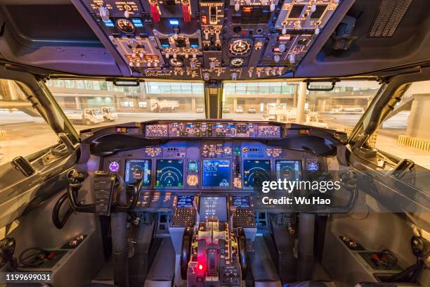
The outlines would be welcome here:
M 230 186 L 230 160 L 203 160 L 203 186 Z

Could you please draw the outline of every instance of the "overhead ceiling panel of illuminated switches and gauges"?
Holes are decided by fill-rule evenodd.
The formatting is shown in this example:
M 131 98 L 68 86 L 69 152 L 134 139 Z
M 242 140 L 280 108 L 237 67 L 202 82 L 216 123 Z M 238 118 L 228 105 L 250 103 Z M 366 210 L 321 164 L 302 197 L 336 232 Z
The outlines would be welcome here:
M 207 81 L 294 71 L 340 0 L 73 2 L 132 76 Z

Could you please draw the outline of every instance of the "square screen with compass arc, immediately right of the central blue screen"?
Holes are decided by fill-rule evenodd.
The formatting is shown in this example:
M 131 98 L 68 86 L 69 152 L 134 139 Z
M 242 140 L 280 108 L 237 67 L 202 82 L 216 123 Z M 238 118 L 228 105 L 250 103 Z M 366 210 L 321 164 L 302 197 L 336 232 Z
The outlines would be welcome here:
M 263 181 L 271 180 L 270 160 L 245 160 L 243 170 L 243 185 L 245 187 L 261 186 Z

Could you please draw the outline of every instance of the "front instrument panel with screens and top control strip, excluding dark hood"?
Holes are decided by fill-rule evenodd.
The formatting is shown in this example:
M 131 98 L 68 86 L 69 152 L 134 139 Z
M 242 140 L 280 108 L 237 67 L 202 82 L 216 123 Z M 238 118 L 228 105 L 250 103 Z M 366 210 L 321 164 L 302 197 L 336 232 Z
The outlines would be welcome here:
M 235 227 L 252 226 L 254 189 L 263 181 L 299 180 L 306 170 L 326 169 L 323 157 L 266 143 L 284 132 L 269 123 L 148 123 L 145 137 L 164 143 L 107 155 L 102 166 L 122 176 L 126 186 L 134 184 L 136 170 L 143 173 L 137 211 L 173 210 L 175 226 L 211 215 Z

